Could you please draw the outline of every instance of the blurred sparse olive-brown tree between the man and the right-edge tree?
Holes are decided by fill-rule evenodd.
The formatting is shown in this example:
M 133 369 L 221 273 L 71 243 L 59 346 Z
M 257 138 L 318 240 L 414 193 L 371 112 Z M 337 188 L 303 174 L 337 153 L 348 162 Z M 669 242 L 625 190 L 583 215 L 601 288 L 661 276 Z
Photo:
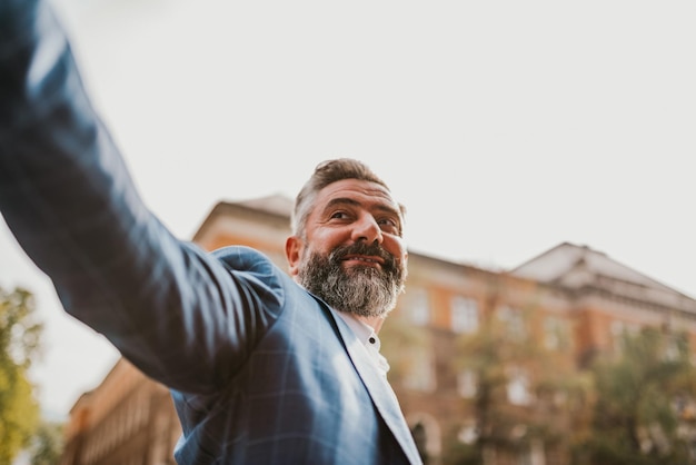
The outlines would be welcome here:
M 459 338 L 455 369 L 471 376 L 475 392 L 465 399 L 469 434 L 451 442 L 445 463 L 487 463 L 491 451 L 514 459 L 534 443 L 568 453 L 587 431 L 589 379 L 575 369 L 569 345 L 545 345 L 535 308 L 493 307 L 475 334 Z

